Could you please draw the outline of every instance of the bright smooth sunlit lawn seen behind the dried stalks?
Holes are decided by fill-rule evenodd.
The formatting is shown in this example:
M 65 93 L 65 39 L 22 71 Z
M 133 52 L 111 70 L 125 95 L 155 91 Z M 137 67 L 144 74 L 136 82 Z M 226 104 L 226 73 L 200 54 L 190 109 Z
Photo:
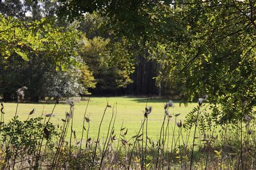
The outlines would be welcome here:
M 157 139 L 160 134 L 161 124 L 164 118 L 164 103 L 168 102 L 168 99 L 148 99 L 148 106 L 152 106 L 152 113 L 148 116 L 148 136 L 152 139 Z M 86 108 L 87 101 L 75 101 L 74 109 L 74 125 L 73 129 L 76 130 L 77 139 L 81 138 L 82 126 L 83 126 L 83 115 Z M 88 106 L 87 114 L 90 116 L 90 134 L 89 137 L 95 139 L 97 137 L 97 131 L 99 128 L 100 120 L 104 108 L 106 107 L 107 98 L 106 97 L 92 97 Z M 124 122 L 123 127 L 128 128 L 127 137 L 134 136 L 136 132 L 139 131 L 141 122 L 143 121 L 143 110 L 147 103 L 146 98 L 135 98 L 135 97 L 109 97 L 108 103 L 111 106 L 115 106 L 117 103 L 117 115 L 115 123 L 115 133 L 119 134 L 119 129 Z M 16 103 L 4 103 L 4 122 L 8 122 L 15 115 Z M 177 121 L 182 120 L 186 114 L 191 111 L 196 106 L 196 103 L 188 104 L 184 106 L 182 104 L 179 106 L 179 101 L 174 101 L 174 108 L 170 108 L 170 114 L 174 115 L 180 113 L 177 117 Z M 51 113 L 54 104 L 40 103 L 40 104 L 29 104 L 20 103 L 17 111 L 17 115 L 20 120 L 26 120 L 28 114 L 33 108 L 36 112 L 31 115 L 31 117 L 40 117 L 44 108 L 44 115 Z M 65 112 L 69 111 L 69 106 L 66 103 L 60 103 L 56 106 L 54 110 L 54 116 L 51 118 L 51 122 L 55 125 L 62 125 L 63 122 L 61 118 L 65 119 Z M 100 131 L 100 138 L 106 136 L 108 132 L 108 125 L 112 114 L 112 108 L 108 108 L 106 111 L 106 116 L 102 123 L 102 128 Z M 170 121 L 171 125 L 174 125 L 174 117 Z M 86 127 L 87 128 L 87 127 Z M 70 130 L 69 130 L 70 131 Z M 170 130 L 171 131 L 171 130 Z M 176 132 L 177 133 L 177 132 Z

